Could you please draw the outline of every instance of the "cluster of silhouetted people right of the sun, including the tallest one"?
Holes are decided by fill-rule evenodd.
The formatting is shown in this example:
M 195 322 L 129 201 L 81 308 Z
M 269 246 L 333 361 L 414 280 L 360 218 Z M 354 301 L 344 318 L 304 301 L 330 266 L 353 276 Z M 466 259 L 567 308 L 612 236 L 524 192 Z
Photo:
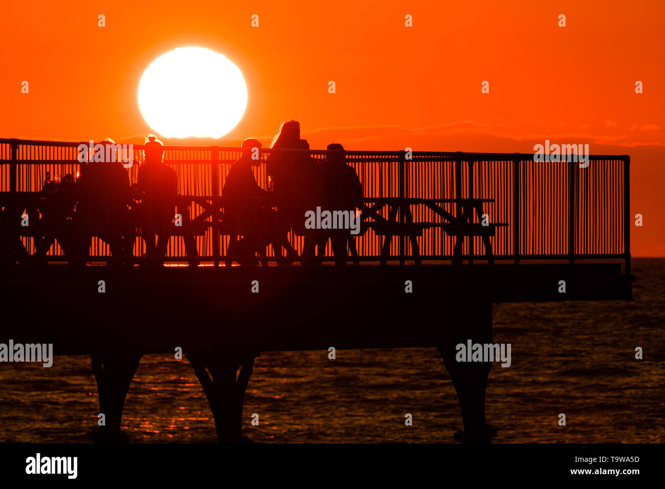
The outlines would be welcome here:
M 254 156 L 261 143 L 247 139 L 242 148 L 243 156 L 229 170 L 222 190 L 224 222 L 235 228 L 232 234 L 243 236 L 231 242 L 228 253 L 249 257 L 245 262 L 255 263 L 251 257 L 272 244 L 276 255 L 281 256 L 284 250 L 285 263 L 298 258 L 301 263 L 321 263 L 331 240 L 338 265 L 346 264 L 347 243 L 354 263 L 358 263 L 348 229 L 305 228 L 305 213 L 317 206 L 355 213 L 362 204 L 362 185 L 355 170 L 346 164 L 341 144 L 329 144 L 327 157 L 319 162 L 311 158 L 307 140 L 301 139 L 300 124 L 295 120 L 284 122 L 271 148 L 303 151 L 269 154 L 269 190 L 259 186 L 252 170 L 260 164 Z M 277 210 L 273 209 L 275 203 Z M 305 236 L 301 257 L 289 242 L 289 230 Z

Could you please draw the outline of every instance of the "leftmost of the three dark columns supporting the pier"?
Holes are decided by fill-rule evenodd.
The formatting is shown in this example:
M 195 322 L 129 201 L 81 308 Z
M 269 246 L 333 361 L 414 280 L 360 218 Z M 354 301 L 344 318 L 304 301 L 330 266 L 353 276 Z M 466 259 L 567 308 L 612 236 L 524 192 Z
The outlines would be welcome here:
M 90 355 L 92 371 L 97 380 L 99 412 L 104 414 L 105 425 L 92 431 L 88 438 L 95 443 L 128 442 L 129 436 L 120 432 L 122 409 L 130 384 L 138 369 L 142 353 L 112 352 Z

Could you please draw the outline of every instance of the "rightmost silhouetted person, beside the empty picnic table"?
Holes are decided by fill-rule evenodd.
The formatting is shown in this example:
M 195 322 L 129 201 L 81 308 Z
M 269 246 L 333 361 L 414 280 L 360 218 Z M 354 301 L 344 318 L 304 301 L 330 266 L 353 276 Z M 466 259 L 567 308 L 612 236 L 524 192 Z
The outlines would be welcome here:
M 341 144 L 329 144 L 327 150 L 331 151 L 323 162 L 323 199 L 325 209 L 348 212 L 349 219 L 356 213 L 356 208 L 362 203 L 362 184 L 356 170 L 346 164 L 344 148 Z M 358 224 L 359 226 L 359 224 Z M 358 264 L 355 236 L 350 229 L 328 230 L 331 240 L 332 253 L 337 265 L 346 265 L 346 245 L 351 251 L 354 264 Z M 324 239 L 323 248 L 325 249 Z M 321 242 L 319 242 L 321 249 Z

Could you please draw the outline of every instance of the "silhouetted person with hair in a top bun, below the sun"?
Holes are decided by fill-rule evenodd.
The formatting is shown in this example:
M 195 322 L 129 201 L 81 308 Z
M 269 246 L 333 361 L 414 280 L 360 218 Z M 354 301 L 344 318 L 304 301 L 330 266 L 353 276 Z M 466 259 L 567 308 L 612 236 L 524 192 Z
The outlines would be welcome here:
M 141 200 L 137 212 L 138 222 L 146 243 L 146 257 L 150 263 L 163 265 L 166 245 L 174 230 L 172 226 L 175 226 L 173 220 L 178 196 L 178 174 L 164 164 L 164 146 L 155 136 L 148 136 L 144 154 L 144 163 L 136 177 L 136 196 Z M 196 241 L 188 230 L 184 233 L 184 242 L 190 265 L 199 265 Z

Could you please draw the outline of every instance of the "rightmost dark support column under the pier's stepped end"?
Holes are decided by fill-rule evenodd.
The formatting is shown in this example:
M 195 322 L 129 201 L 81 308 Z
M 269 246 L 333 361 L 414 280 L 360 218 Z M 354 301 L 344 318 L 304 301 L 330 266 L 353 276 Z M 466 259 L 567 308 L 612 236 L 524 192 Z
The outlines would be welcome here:
M 455 439 L 462 443 L 489 443 L 497 430 L 485 422 L 485 389 L 491 362 L 458 362 L 456 346 L 473 343 L 492 343 L 492 306 L 489 302 L 469 303 L 450 336 L 437 351 L 444 359 L 460 400 L 464 431 L 458 430 Z M 470 355 L 470 353 L 469 353 Z

